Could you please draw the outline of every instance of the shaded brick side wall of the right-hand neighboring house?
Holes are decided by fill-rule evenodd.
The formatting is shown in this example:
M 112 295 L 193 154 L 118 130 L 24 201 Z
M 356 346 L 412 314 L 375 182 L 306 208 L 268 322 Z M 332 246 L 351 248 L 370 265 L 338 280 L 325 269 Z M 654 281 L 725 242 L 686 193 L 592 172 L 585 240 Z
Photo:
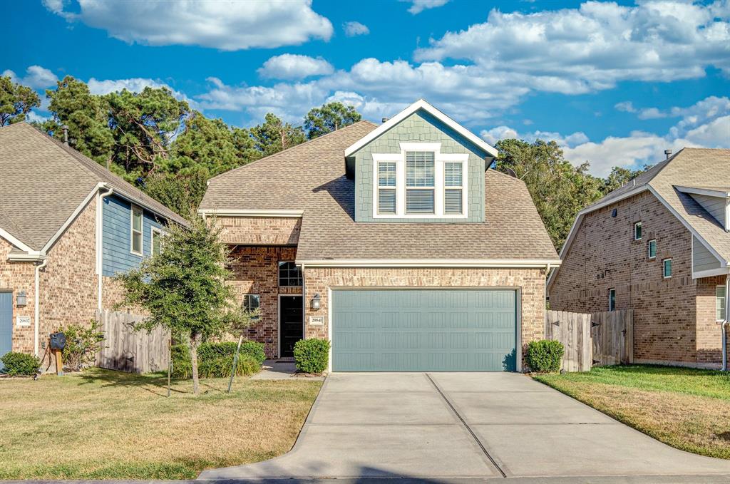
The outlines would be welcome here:
M 634 241 L 638 221 L 642 239 Z M 655 259 L 648 258 L 650 239 L 656 239 Z M 691 232 L 649 192 L 591 212 L 564 255 L 550 288 L 550 308 L 606 311 L 608 290 L 615 288 L 616 308 L 634 309 L 635 360 L 696 364 L 712 358 L 720 331 L 713 337 L 702 330 L 699 336 L 691 245 Z M 662 277 L 664 258 L 672 258 L 670 279 Z

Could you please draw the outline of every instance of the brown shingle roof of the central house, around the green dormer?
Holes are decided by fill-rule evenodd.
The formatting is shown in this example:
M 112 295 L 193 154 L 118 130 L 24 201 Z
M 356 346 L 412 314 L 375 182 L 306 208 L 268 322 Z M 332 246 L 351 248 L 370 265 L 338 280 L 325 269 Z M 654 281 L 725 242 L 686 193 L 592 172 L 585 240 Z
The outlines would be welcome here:
M 488 170 L 484 223 L 356 223 L 344 150 L 365 121 L 218 175 L 202 210 L 304 210 L 298 260 L 548 259 L 558 255 L 523 182 Z

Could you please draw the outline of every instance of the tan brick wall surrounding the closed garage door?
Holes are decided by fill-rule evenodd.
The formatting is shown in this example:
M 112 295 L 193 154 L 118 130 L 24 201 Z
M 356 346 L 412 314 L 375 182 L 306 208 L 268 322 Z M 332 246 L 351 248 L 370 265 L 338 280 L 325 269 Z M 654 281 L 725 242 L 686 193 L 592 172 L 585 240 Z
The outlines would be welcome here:
M 304 327 L 308 338 L 328 338 L 328 289 L 340 287 L 520 288 L 523 354 L 527 343 L 545 337 L 545 275 L 540 269 L 305 267 Z M 319 310 L 308 304 L 315 293 L 321 298 Z M 310 316 L 323 316 L 324 325 L 310 326 Z

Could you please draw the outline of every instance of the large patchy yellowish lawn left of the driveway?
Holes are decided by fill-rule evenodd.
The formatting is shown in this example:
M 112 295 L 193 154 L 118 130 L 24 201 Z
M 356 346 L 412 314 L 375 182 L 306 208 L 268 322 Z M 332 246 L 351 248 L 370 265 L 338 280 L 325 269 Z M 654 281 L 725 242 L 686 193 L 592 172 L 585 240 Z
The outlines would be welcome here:
M 190 479 L 291 449 L 321 382 L 88 369 L 0 380 L 0 479 Z

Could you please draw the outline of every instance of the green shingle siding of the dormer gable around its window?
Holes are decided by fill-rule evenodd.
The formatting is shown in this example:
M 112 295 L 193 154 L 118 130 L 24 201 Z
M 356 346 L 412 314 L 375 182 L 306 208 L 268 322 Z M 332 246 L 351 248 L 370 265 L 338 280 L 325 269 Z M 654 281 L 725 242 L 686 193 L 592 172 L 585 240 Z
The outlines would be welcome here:
M 400 153 L 401 142 L 441 143 L 441 153 L 469 155 L 468 218 L 373 218 L 372 153 Z M 428 112 L 419 110 L 355 153 L 355 221 L 468 223 L 484 221 L 484 158 L 488 156 Z

